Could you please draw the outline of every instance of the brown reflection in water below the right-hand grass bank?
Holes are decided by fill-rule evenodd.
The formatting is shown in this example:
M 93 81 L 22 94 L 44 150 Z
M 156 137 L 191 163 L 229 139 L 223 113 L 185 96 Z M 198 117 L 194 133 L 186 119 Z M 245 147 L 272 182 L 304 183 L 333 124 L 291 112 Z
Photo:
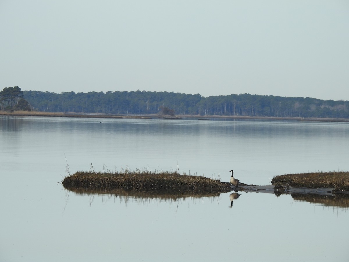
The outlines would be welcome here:
M 336 194 L 333 196 L 316 195 L 316 194 L 291 194 L 292 198 L 297 201 L 306 201 L 314 204 L 325 206 L 337 206 L 349 208 L 349 195 Z

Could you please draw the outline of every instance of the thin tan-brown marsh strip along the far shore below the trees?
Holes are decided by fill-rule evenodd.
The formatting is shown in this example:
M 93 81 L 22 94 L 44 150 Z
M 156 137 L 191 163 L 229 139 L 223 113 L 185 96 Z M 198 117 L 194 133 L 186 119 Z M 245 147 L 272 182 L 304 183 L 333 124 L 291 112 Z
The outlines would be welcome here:
M 211 120 L 211 119 L 260 119 L 260 120 L 294 120 L 305 122 L 344 122 L 349 123 L 349 119 L 346 118 L 304 118 L 304 117 L 257 117 L 257 116 L 200 116 L 200 115 L 161 115 L 161 114 L 148 114 L 148 115 L 113 115 L 113 114 L 83 114 L 75 112 L 40 112 L 40 111 L 0 111 L 0 116 L 39 116 L 39 117 L 76 117 L 76 118 L 131 118 L 131 119 L 185 119 L 185 118 L 197 118 L 198 120 Z

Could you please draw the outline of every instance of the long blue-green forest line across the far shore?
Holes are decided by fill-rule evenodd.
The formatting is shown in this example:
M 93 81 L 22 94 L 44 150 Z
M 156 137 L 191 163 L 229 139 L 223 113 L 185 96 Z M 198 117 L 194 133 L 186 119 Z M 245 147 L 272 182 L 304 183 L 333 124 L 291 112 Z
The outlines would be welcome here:
M 60 94 L 23 91 L 37 111 L 105 114 L 272 116 L 349 118 L 349 101 L 251 94 L 202 97 L 200 94 L 109 91 Z M 14 102 L 9 98 L 6 103 Z

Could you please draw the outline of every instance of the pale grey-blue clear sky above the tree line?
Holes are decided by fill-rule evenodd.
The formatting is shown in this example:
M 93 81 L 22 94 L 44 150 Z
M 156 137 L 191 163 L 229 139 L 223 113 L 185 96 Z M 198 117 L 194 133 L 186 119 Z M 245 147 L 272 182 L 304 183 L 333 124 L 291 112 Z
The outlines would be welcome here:
M 349 1 L 0 0 L 0 89 L 349 100 Z

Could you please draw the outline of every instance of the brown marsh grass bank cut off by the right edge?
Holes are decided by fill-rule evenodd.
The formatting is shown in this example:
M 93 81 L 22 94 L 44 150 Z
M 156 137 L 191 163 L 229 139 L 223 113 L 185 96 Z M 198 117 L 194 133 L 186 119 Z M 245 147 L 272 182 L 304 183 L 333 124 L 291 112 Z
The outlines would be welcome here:
M 272 184 L 307 188 L 335 188 L 335 191 L 349 190 L 349 172 L 317 172 L 275 176 Z

